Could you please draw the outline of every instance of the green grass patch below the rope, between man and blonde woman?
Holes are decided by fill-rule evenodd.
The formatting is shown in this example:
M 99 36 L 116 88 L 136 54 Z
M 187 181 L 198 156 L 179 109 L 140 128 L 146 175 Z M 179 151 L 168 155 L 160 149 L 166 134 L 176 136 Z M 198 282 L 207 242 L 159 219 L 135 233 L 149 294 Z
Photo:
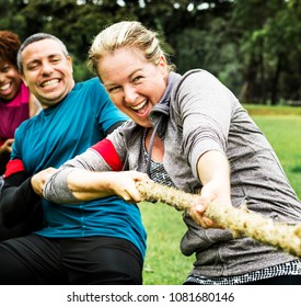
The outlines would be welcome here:
M 194 255 L 187 258 L 180 251 L 180 241 L 187 229 L 182 213 L 164 204 L 139 206 L 148 232 L 143 284 L 182 284 L 194 261 Z

